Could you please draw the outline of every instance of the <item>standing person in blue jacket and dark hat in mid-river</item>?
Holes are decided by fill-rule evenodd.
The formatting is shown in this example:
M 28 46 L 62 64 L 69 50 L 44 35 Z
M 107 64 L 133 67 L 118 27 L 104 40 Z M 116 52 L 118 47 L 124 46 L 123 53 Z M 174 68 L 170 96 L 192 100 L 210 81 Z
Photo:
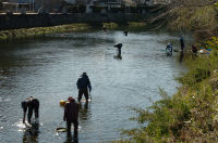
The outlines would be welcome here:
M 78 89 L 78 102 L 81 102 L 83 94 L 85 95 L 86 102 L 88 102 L 88 90 L 89 92 L 92 91 L 92 86 L 86 73 L 83 73 L 83 75 L 78 78 L 76 86 Z

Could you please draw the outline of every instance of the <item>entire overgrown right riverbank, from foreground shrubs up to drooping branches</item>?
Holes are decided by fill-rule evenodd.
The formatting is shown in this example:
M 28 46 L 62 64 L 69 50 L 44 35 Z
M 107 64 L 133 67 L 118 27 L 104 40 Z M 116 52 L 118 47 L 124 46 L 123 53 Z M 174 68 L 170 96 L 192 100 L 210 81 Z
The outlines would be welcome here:
M 178 92 L 170 96 L 160 89 L 162 100 L 145 109 L 134 108 L 137 116 L 132 119 L 137 121 L 141 128 L 124 130 L 123 133 L 131 140 L 114 141 L 116 143 L 218 142 L 216 9 L 214 5 L 194 8 L 194 10 L 180 8 L 174 13 L 179 15 L 174 15 L 168 28 L 177 31 L 193 31 L 198 48 L 204 47 L 211 51 L 209 54 L 198 54 L 198 56 L 187 55 L 184 63 L 189 70 L 177 78 L 182 84 L 178 88 Z

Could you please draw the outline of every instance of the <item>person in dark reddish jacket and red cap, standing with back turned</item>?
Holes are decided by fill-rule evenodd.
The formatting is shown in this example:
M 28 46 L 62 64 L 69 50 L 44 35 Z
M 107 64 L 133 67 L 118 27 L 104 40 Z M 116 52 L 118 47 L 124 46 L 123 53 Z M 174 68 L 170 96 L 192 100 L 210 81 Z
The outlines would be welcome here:
M 74 140 L 77 140 L 78 130 L 78 104 L 70 96 L 69 103 L 65 104 L 63 120 L 66 121 L 66 133 L 71 138 L 71 123 L 74 126 Z

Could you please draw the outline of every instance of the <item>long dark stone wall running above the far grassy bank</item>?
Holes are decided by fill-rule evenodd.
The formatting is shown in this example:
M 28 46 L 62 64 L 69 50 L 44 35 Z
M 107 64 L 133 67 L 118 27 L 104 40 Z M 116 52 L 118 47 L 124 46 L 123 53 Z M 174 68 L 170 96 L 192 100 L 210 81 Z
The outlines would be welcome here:
M 114 22 L 141 22 L 145 18 L 142 14 L 0 14 L 0 30 L 48 27 L 72 23 L 100 24 Z

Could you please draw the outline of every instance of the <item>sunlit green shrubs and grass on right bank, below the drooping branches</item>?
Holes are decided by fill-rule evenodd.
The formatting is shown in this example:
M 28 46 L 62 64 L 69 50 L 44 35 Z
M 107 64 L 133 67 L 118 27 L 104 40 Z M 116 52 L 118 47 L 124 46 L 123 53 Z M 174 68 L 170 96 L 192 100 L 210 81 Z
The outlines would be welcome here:
M 209 55 L 185 60 L 189 72 L 172 98 L 162 89 L 162 100 L 146 109 L 135 108 L 141 128 L 124 131 L 131 136 L 121 142 L 218 142 L 218 38 L 208 42 Z M 148 125 L 147 125 L 148 123 Z

